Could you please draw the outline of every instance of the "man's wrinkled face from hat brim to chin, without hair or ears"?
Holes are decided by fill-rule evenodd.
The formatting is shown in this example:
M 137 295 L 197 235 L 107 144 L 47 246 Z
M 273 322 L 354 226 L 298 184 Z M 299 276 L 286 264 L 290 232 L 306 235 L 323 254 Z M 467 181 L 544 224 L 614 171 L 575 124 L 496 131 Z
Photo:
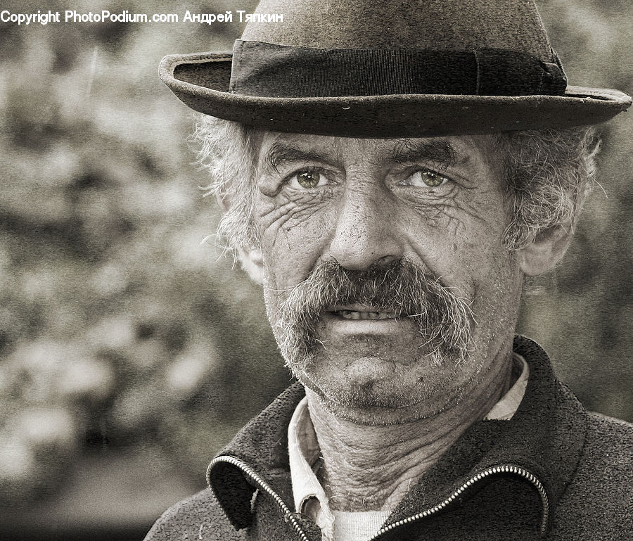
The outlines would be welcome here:
M 502 243 L 500 161 L 488 136 L 264 134 L 267 310 L 326 407 L 378 423 L 430 416 L 507 362 L 523 275 Z

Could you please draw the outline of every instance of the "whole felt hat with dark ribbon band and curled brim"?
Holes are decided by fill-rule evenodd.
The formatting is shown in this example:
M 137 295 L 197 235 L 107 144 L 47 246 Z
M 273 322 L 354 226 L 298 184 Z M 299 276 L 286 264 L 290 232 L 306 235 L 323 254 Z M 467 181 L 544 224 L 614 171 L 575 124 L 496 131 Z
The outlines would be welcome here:
M 593 125 L 631 104 L 567 84 L 532 0 L 262 0 L 250 19 L 233 51 L 163 58 L 162 81 L 207 115 L 357 137 Z

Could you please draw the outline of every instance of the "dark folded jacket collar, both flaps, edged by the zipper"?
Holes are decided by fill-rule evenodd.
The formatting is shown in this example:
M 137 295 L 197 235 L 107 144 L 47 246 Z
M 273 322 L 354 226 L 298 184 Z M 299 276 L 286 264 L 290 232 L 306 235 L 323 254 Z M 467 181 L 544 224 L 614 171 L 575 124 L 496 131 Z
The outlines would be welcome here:
M 586 414 L 573 393 L 554 376 L 549 358 L 522 336 L 514 350 L 530 365 L 525 397 L 510 421 L 478 421 L 445 453 L 395 509 L 390 522 L 433 507 L 468 478 L 501 464 L 518 465 L 544 485 L 549 516 L 576 469 Z M 292 502 L 288 465 L 288 423 L 305 395 L 299 383 L 286 389 L 252 419 L 217 457 L 247 464 L 286 502 Z M 236 528 L 252 521 L 252 480 L 229 462 L 214 460 L 207 481 Z

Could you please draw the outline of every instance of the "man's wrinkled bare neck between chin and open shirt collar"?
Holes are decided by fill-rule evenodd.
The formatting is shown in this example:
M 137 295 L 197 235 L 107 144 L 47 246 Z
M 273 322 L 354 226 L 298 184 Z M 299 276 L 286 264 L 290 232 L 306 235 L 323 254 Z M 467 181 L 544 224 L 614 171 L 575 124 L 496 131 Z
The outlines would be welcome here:
M 483 419 L 512 384 L 510 343 L 497 352 L 463 400 L 428 419 L 369 426 L 343 419 L 306 388 L 310 418 L 321 447 L 317 475 L 336 511 L 392 511 L 409 487 L 475 421 Z

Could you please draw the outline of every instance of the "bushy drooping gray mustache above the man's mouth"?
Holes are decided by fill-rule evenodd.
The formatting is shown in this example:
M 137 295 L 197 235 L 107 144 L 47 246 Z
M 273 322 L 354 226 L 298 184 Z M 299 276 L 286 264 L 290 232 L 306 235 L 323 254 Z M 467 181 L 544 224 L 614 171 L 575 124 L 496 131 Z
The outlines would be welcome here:
M 288 363 L 292 364 L 288 360 L 292 355 L 285 348 L 298 349 L 304 356 L 314 350 L 319 342 L 316 327 L 324 312 L 335 305 L 352 304 L 411 318 L 430 352 L 468 357 L 474 323 L 471 303 L 428 269 L 404 259 L 362 270 L 345 269 L 335 260 L 326 260 L 290 289 L 279 307 L 274 330 Z

